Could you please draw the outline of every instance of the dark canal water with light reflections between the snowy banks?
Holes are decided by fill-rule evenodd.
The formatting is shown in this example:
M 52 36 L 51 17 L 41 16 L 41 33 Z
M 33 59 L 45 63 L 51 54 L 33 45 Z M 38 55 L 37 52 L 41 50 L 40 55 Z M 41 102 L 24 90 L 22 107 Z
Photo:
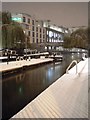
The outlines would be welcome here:
M 66 54 L 63 62 L 49 63 L 40 67 L 3 77 L 2 116 L 8 119 L 31 102 L 65 73 L 73 59 L 80 60 L 82 54 Z

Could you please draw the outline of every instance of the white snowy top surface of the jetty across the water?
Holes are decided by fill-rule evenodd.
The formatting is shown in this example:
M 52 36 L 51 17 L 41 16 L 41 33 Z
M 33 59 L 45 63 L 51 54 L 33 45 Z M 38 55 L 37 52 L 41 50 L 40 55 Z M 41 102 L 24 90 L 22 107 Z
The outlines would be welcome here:
M 0 63 L 0 72 L 4 72 L 4 71 L 9 71 L 9 70 L 13 70 L 13 69 L 17 69 L 17 68 L 21 68 L 23 66 L 31 66 L 31 65 L 36 65 L 36 64 L 40 64 L 40 63 L 45 63 L 45 62 L 50 62 L 53 61 L 53 59 L 50 58 L 39 58 L 39 59 L 31 59 L 29 60 L 20 60 L 20 61 L 13 61 L 13 62 L 9 62 L 7 64 L 7 62 L 2 62 Z

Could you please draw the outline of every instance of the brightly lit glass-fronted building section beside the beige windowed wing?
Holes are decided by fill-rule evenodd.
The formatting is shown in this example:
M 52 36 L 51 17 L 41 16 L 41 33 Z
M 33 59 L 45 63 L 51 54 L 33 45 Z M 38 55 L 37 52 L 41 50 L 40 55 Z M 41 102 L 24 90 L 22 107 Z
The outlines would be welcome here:
M 58 52 L 63 50 L 64 35 L 68 30 L 62 26 L 57 26 L 50 21 L 43 21 L 43 27 L 46 28 L 45 50 L 49 52 Z

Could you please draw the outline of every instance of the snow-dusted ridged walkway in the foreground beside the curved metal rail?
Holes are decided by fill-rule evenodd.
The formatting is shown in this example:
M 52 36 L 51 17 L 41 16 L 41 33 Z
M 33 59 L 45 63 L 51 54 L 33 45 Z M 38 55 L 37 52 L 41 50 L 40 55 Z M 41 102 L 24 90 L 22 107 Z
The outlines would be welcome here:
M 78 71 L 72 68 L 13 118 L 88 118 L 88 60 Z

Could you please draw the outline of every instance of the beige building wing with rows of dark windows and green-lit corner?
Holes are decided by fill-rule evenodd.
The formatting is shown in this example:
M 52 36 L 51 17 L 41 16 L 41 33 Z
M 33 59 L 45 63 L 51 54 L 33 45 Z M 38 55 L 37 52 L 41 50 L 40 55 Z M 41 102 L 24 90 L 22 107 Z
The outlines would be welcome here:
M 20 23 L 24 33 L 29 37 L 30 43 L 43 43 L 45 28 L 33 16 L 26 13 L 16 13 L 12 14 L 12 20 Z

